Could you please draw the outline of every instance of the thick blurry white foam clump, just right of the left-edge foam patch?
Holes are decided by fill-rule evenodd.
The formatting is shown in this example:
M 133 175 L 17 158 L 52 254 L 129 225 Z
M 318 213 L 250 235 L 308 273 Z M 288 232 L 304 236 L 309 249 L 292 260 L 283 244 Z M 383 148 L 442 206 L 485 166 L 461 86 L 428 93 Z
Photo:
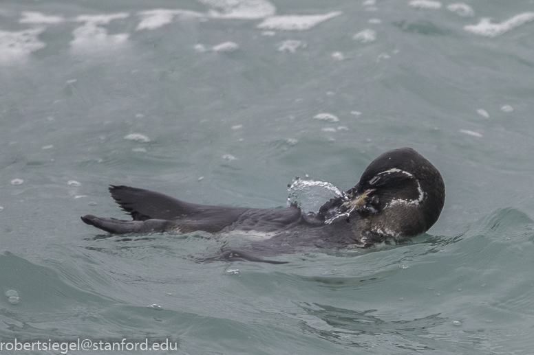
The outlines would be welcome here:
M 129 38 L 129 34 L 107 34 L 107 30 L 102 25 L 118 19 L 126 19 L 129 14 L 120 12 L 118 14 L 107 15 L 82 15 L 76 18 L 78 22 L 85 22 L 85 25 L 76 28 L 72 34 L 74 39 L 70 42 L 71 49 L 76 54 L 97 54 L 108 53 L 121 49 Z

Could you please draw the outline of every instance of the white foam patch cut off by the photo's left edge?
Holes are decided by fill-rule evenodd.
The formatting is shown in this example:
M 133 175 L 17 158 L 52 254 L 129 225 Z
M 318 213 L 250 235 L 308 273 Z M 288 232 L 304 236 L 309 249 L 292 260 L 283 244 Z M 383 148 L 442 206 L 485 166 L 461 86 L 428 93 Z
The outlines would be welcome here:
M 19 63 L 28 58 L 32 51 L 46 47 L 37 36 L 44 27 L 19 32 L 0 30 L 0 64 Z

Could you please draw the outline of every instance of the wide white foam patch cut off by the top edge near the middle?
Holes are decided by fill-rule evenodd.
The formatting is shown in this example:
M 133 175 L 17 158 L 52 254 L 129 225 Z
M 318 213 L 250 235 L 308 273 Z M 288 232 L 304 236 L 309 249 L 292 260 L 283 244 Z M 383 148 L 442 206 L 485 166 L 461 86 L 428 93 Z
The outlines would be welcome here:
M 208 15 L 216 19 L 255 20 L 273 16 L 275 5 L 266 0 L 199 0 L 208 5 Z

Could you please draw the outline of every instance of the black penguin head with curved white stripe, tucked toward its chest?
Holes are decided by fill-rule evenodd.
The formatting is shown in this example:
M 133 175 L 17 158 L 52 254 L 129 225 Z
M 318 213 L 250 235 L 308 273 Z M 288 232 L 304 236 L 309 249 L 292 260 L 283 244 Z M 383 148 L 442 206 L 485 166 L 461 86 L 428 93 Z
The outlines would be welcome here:
M 424 233 L 445 204 L 440 172 L 412 148 L 389 150 L 374 159 L 347 192 L 362 231 L 409 237 Z M 351 217 L 352 218 L 352 217 Z

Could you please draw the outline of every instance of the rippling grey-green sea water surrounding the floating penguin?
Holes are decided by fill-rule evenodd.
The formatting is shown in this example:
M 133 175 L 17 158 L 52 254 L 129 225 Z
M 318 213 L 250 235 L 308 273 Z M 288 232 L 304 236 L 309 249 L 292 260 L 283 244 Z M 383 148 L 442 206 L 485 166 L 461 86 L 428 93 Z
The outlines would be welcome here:
M 447 188 L 410 243 L 197 262 L 251 237 L 80 220 L 127 218 L 109 184 L 313 209 L 403 146 Z M 1 1 L 0 353 L 533 354 L 533 151 L 532 0 Z

